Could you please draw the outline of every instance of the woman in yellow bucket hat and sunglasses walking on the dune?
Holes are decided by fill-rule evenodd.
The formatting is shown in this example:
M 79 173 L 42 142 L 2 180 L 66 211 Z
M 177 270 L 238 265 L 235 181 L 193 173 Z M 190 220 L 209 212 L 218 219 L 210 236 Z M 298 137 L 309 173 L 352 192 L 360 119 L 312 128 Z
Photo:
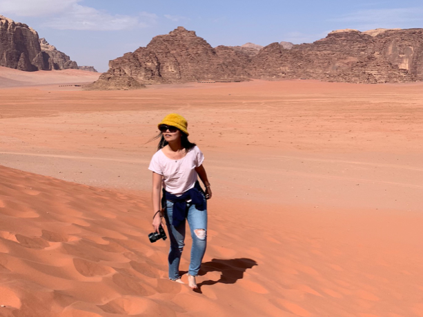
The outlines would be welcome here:
M 159 232 L 161 207 L 166 210 L 164 217 L 170 238 L 169 278 L 184 284 L 179 275 L 179 261 L 184 249 L 185 225 L 188 221 L 193 247 L 188 269 L 188 285 L 197 288 L 197 276 L 207 239 L 207 204 L 212 192 L 203 167 L 204 156 L 195 145 L 188 141 L 188 123 L 179 114 L 168 114 L 158 127 L 161 137 L 157 152 L 151 159 L 149 170 L 153 171 L 153 228 Z M 206 192 L 201 189 L 197 176 Z M 160 190 L 163 185 L 163 198 Z

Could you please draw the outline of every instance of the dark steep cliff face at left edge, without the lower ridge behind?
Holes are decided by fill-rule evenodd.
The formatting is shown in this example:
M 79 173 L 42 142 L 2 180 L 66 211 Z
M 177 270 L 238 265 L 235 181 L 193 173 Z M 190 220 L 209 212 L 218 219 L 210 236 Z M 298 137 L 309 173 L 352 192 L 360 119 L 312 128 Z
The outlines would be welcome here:
M 43 70 L 38 34 L 28 25 L 0 15 L 0 66 L 19 70 Z

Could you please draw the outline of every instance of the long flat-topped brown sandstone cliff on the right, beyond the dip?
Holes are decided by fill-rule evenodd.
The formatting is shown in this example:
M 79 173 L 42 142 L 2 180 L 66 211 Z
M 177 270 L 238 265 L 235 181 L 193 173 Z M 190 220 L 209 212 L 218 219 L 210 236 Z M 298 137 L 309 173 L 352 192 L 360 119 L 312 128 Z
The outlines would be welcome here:
M 423 29 L 340 30 L 286 50 L 272 43 L 250 64 L 253 78 L 349 83 L 423 80 Z

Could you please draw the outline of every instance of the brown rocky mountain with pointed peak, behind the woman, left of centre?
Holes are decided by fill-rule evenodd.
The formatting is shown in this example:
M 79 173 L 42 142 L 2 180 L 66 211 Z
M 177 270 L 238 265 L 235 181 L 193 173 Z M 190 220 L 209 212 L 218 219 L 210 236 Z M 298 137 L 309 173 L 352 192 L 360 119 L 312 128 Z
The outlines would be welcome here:
M 97 84 L 107 85 L 119 76 L 129 76 L 142 84 L 247 80 L 243 59 L 250 63 L 247 54 L 224 46 L 212 48 L 194 31 L 179 27 L 154 37 L 145 48 L 110 61 L 108 72 Z

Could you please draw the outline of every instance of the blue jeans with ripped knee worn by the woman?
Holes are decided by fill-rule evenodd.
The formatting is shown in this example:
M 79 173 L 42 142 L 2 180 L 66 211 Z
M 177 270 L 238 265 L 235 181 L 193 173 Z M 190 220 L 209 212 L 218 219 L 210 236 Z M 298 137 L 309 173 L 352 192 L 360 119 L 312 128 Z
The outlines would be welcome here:
M 207 245 L 207 209 L 203 211 L 197 210 L 195 205 L 187 203 L 188 225 L 190 226 L 191 238 L 193 238 L 193 246 L 191 247 L 191 260 L 188 274 L 197 276 Z M 170 239 L 169 261 L 169 278 L 177 280 L 181 278 L 179 275 L 179 262 L 181 260 L 182 250 L 184 249 L 186 220 L 178 227 L 172 225 L 173 202 L 166 201 L 166 225 Z

